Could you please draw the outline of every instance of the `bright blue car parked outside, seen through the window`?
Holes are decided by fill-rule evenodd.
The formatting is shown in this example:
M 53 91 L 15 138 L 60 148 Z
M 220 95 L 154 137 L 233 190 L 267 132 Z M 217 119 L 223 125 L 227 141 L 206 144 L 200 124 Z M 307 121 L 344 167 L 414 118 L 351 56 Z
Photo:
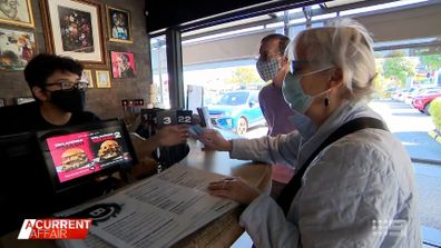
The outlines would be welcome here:
M 214 126 L 238 135 L 244 135 L 249 127 L 264 121 L 257 90 L 226 92 L 218 102 L 208 106 L 208 111 Z

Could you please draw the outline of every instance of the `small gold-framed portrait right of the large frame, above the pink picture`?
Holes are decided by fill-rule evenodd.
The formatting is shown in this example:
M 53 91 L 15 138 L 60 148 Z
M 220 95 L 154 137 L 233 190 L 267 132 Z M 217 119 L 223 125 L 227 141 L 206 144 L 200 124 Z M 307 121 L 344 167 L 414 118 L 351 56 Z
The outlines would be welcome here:
M 106 6 L 109 41 L 131 43 L 131 19 L 128 10 Z

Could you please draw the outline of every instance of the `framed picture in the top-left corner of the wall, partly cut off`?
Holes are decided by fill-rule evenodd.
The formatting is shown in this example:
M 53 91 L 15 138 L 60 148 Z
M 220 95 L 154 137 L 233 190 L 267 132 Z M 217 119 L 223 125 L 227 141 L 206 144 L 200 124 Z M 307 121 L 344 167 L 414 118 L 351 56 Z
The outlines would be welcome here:
M 31 0 L 1 0 L 0 23 L 33 28 Z

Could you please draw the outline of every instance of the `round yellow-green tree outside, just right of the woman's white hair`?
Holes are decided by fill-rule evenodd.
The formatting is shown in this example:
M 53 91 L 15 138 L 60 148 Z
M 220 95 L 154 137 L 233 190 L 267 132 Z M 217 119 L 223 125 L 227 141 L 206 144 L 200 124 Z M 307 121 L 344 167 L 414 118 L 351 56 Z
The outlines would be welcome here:
M 415 62 L 405 57 L 403 51 L 392 51 L 383 63 L 383 75 L 386 78 L 398 80 L 402 87 L 405 87 L 406 78 L 415 75 Z

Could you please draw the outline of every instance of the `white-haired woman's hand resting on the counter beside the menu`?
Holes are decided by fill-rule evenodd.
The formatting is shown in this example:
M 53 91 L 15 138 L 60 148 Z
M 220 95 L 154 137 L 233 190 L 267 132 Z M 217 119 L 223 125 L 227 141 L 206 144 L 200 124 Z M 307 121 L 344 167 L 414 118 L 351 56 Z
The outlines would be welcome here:
M 261 192 L 241 178 L 225 178 L 208 185 L 208 192 L 213 196 L 225 197 L 243 205 L 249 205 Z

